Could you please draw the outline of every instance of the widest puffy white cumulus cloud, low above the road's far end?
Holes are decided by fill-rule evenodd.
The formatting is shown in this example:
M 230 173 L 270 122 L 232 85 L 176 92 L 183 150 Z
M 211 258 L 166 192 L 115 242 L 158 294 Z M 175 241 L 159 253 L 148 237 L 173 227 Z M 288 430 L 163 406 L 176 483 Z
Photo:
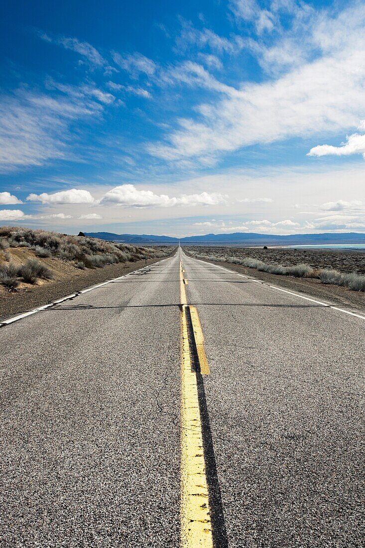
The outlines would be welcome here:
M 215 206 L 226 201 L 225 196 L 212 192 L 181 195 L 170 198 L 166 194 L 155 194 L 151 190 L 138 190 L 134 185 L 116 186 L 102 197 L 101 205 L 115 204 L 124 207 L 172 207 L 172 206 Z

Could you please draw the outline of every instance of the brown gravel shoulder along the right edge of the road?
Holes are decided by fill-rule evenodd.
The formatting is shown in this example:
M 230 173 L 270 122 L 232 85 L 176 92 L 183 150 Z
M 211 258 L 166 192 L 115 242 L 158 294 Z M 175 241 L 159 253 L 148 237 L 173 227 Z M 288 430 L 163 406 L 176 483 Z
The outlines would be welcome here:
M 185 251 L 185 253 L 187 252 Z M 260 279 L 263 282 L 272 284 L 273 286 L 279 286 L 295 292 L 305 293 L 306 295 L 312 296 L 314 299 L 320 299 L 330 302 L 331 304 L 350 307 L 365 313 L 365 294 L 363 292 L 356 292 L 345 287 L 323 284 L 319 279 L 315 278 L 280 276 L 269 274 L 267 272 L 259 272 L 258 270 L 249 269 L 245 266 L 236 265 L 232 262 L 211 261 L 208 259 L 201 260 L 211 262 L 214 265 L 221 266 L 235 272 L 246 274 L 252 278 Z

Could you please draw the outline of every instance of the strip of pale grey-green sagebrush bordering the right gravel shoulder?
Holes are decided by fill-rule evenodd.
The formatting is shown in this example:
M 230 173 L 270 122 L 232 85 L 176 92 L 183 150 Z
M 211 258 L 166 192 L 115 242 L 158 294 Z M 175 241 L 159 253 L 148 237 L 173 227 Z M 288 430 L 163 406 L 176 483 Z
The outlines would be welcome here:
M 319 278 L 322 283 L 344 286 L 352 291 L 365 292 L 365 276 L 357 272 L 340 272 L 335 269 L 318 269 L 304 263 L 284 266 L 272 262 L 265 262 L 253 257 L 244 257 L 241 259 L 236 255 L 203 254 L 191 248 L 189 249 L 189 253 L 199 259 L 208 259 L 217 262 L 231 262 L 233 264 L 246 266 L 249 269 L 269 272 L 270 274 L 294 276 L 296 278 Z

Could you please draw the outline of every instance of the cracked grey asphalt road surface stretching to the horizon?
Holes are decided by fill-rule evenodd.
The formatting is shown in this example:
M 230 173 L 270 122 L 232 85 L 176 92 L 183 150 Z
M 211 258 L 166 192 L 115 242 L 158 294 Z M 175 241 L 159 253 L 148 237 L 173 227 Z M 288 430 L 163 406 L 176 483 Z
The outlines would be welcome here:
M 4 325 L 0 546 L 363 547 L 365 313 L 303 296 L 179 249 Z M 194 315 L 208 374 L 182 375 Z M 180 538 L 190 371 L 212 516 L 195 541 Z

